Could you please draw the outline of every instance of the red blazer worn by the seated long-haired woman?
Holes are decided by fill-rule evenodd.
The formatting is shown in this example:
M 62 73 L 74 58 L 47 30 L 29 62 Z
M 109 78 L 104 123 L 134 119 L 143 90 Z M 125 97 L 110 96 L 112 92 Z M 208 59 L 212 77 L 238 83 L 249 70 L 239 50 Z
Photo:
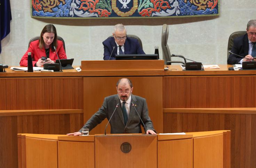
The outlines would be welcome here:
M 57 40 L 57 43 L 58 43 L 58 47 L 56 48 L 56 51 L 58 53 L 59 59 L 67 59 L 67 56 L 63 47 L 63 42 L 60 40 Z M 24 56 L 21 58 L 21 61 L 19 62 L 20 66 L 27 67 L 28 52 L 31 52 L 33 66 L 35 66 L 35 64 L 41 57 L 46 57 L 45 48 L 42 48 L 42 49 L 39 48 L 39 40 L 32 41 L 29 45 L 29 49 L 27 50 L 27 52 L 24 54 Z M 49 52 L 49 58 L 54 62 L 56 61 L 56 59 L 58 59 L 57 54 L 55 53 L 55 50 L 51 50 L 51 47 Z

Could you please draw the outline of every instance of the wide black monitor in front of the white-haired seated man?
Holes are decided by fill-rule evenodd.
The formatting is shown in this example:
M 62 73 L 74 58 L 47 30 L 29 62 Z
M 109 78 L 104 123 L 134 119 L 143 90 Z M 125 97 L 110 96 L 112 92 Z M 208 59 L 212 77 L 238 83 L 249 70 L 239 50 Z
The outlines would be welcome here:
M 156 60 L 157 54 L 119 54 L 115 55 L 115 60 Z

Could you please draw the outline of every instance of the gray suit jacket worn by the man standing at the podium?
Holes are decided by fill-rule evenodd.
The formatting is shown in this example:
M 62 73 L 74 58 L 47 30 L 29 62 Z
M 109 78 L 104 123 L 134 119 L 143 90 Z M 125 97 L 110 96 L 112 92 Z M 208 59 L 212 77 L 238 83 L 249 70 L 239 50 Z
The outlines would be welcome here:
M 141 117 L 143 123 L 146 126 L 146 130 L 144 131 L 146 132 L 148 129 L 151 129 L 156 132 L 149 117 L 146 100 L 142 97 L 131 94 L 131 102 L 134 103 L 134 106 L 137 109 L 139 116 Z M 104 99 L 102 107 L 99 108 L 99 110 L 86 122 L 83 128 L 89 128 L 89 131 L 91 131 L 105 118 L 109 120 L 118 103 L 119 105 L 110 120 L 111 134 L 142 133 L 141 120 L 139 119 L 139 116 L 137 115 L 135 108 L 132 105 L 130 106 L 128 121 L 125 126 L 121 102 L 117 94 L 106 97 Z M 82 132 L 82 128 L 79 130 L 79 132 Z M 104 132 L 104 130 L 102 130 L 102 132 Z

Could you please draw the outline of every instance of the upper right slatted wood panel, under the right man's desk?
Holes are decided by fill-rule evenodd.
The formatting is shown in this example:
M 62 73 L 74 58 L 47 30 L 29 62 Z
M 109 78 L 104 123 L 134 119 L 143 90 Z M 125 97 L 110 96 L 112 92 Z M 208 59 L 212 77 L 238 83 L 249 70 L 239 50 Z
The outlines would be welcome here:
M 163 108 L 256 107 L 256 76 L 163 77 Z M 249 88 L 249 89 L 248 89 Z

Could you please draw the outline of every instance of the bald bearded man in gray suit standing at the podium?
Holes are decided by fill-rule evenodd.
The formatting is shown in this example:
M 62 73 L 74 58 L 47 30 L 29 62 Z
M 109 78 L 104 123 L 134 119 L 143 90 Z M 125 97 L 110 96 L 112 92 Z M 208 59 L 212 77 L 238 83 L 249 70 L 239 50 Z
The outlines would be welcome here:
M 117 82 L 118 94 L 108 96 L 104 99 L 102 107 L 86 122 L 82 128 L 89 128 L 89 131 L 100 124 L 105 118 L 110 120 L 111 134 L 142 133 L 141 117 L 145 124 L 146 134 L 156 134 L 152 121 L 147 110 L 146 100 L 142 97 L 131 94 L 133 85 L 127 78 L 119 79 Z M 114 109 L 117 107 L 115 113 Z M 136 110 L 138 112 L 136 112 Z M 67 135 L 82 135 L 82 128 L 79 132 Z

